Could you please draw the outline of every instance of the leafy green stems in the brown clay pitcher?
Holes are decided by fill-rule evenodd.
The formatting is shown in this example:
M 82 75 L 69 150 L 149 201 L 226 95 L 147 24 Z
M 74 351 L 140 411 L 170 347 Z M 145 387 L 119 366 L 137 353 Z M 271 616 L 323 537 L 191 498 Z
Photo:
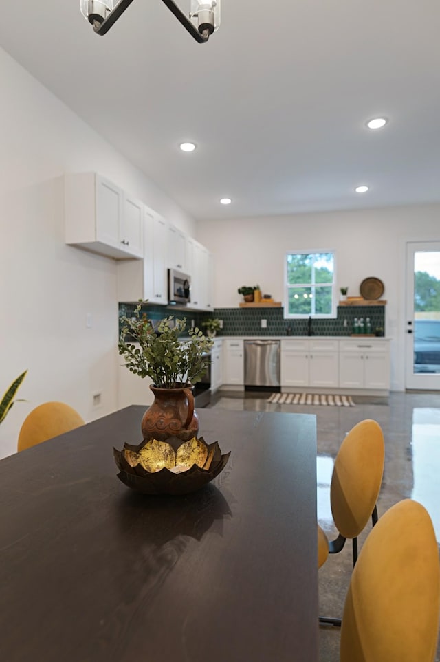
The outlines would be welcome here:
M 182 388 L 201 380 L 210 363 L 206 353 L 213 340 L 197 327 L 188 329 L 189 340 L 179 340 L 186 329 L 186 318 L 164 318 L 153 327 L 151 320 L 141 318 L 140 302 L 133 318 L 122 317 L 118 350 L 131 373 L 150 377 L 157 388 Z M 127 336 L 131 340 L 126 340 Z M 140 346 L 136 346 L 138 342 Z

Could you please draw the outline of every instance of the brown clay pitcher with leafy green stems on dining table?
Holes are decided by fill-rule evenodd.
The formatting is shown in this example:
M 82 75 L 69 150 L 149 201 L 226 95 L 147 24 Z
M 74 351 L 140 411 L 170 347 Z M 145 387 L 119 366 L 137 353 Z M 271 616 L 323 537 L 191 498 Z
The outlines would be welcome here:
M 155 401 L 142 419 L 142 434 L 144 439 L 165 441 L 174 436 L 188 441 L 199 430 L 192 389 L 206 372 L 214 341 L 197 327 L 188 329 L 188 340 L 180 340 L 186 318 L 170 316 L 153 327 L 151 320 L 141 317 L 141 307 L 139 302 L 133 317 L 122 316 L 118 350 L 131 373 L 153 382 Z

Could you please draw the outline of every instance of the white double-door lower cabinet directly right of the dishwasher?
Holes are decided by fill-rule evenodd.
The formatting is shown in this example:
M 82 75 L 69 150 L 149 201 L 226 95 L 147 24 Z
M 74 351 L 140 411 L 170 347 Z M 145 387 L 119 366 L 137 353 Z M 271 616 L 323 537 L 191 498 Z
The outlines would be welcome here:
M 338 387 L 337 340 L 281 340 L 281 386 Z

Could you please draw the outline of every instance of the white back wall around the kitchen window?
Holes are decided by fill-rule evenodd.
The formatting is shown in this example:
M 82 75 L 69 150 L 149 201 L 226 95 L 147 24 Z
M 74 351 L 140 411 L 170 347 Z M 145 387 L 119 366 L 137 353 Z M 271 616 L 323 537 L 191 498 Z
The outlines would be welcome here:
M 214 254 L 214 303 L 236 307 L 241 285 L 256 285 L 283 301 L 284 259 L 290 250 L 335 250 L 338 287 L 359 296 L 364 278 L 384 282 L 386 335 L 391 336 L 393 390 L 404 390 L 407 241 L 440 240 L 440 205 L 285 217 L 206 221 L 197 239 Z

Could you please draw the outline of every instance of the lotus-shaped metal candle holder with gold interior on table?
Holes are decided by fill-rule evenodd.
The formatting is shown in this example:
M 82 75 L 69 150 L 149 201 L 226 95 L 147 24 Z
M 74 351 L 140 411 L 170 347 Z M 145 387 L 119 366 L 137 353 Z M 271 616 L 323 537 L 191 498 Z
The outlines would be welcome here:
M 203 437 L 182 441 L 146 439 L 139 445 L 124 443 L 113 448 L 122 483 L 143 494 L 188 494 L 210 483 L 228 463 L 217 441 L 206 443 Z

